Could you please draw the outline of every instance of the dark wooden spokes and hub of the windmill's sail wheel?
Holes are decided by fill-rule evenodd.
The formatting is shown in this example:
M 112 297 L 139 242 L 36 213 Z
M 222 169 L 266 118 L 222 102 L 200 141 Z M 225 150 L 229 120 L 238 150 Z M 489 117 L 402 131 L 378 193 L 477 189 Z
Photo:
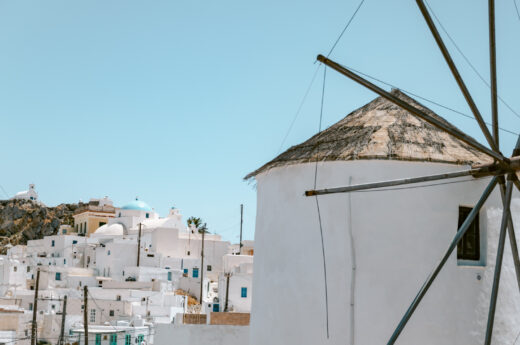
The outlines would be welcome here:
M 348 192 L 354 192 L 354 191 L 361 191 L 361 190 L 370 190 L 375 188 L 382 188 L 382 187 L 390 187 L 390 186 L 399 186 L 399 185 L 408 185 L 408 184 L 415 184 L 415 183 L 421 183 L 426 181 L 439 181 L 439 180 L 447 180 L 447 179 L 453 179 L 461 176 L 473 176 L 475 178 L 480 178 L 483 176 L 492 176 L 492 179 L 489 183 L 489 185 L 485 188 L 482 196 L 480 197 L 479 201 L 476 203 L 475 207 L 472 209 L 466 220 L 463 222 L 463 224 L 458 229 L 456 235 L 454 236 L 453 240 L 451 241 L 449 247 L 444 252 L 442 257 L 439 260 L 439 263 L 437 266 L 433 269 L 431 274 L 428 276 L 420 290 L 418 291 L 415 298 L 412 300 L 410 306 L 406 310 L 404 316 L 402 317 L 401 321 L 395 328 L 393 334 L 391 335 L 390 339 L 388 340 L 387 344 L 394 344 L 403 329 L 405 328 L 406 324 L 412 317 L 414 311 L 418 307 L 418 305 L 421 303 L 421 300 L 428 292 L 429 288 L 431 287 L 432 283 L 438 276 L 439 272 L 442 270 L 444 264 L 452 254 L 453 250 L 457 248 L 457 244 L 462 239 L 466 231 L 471 225 L 471 222 L 476 218 L 478 215 L 479 210 L 484 205 L 485 201 L 488 199 L 489 195 L 492 193 L 492 191 L 498 186 L 500 189 L 500 193 L 502 196 L 502 204 L 503 204 L 503 211 L 501 216 L 501 225 L 500 225 L 500 233 L 499 233 L 499 240 L 498 240 L 498 247 L 497 247 L 497 255 L 496 255 L 496 264 L 495 264 L 495 270 L 494 270 L 494 276 L 493 276 L 493 284 L 492 284 L 492 291 L 491 291 L 491 297 L 490 297 L 490 303 L 489 303 L 489 311 L 488 311 L 488 317 L 487 317 L 487 326 L 486 326 L 486 333 L 485 333 L 485 342 L 484 344 L 489 345 L 491 344 L 492 339 L 492 333 L 493 333 L 493 325 L 494 325 L 494 318 L 495 318 L 495 310 L 497 305 L 497 296 L 498 296 L 498 290 L 499 290 L 499 283 L 500 283 L 500 275 L 501 275 L 501 269 L 502 269 L 502 261 L 504 257 L 504 247 L 505 247 L 505 240 L 506 236 L 509 235 L 509 240 L 511 244 L 511 251 L 513 255 L 513 261 L 515 265 L 515 271 L 516 271 L 516 278 L 518 282 L 518 287 L 520 289 L 520 259 L 518 255 L 518 248 L 517 248 L 517 242 L 515 238 L 515 231 L 513 228 L 513 221 L 511 217 L 511 211 L 510 211 L 510 204 L 511 204 L 511 197 L 513 192 L 513 187 L 516 186 L 520 190 L 520 182 L 516 176 L 516 172 L 520 170 L 520 138 L 517 141 L 516 147 L 513 150 L 513 153 L 511 157 L 505 157 L 500 152 L 499 147 L 499 126 L 498 126 L 498 105 L 497 105 L 497 76 L 496 76 L 496 46 L 495 46 L 495 2 L 494 0 L 489 0 L 488 6 L 489 6 L 489 51 L 490 51 L 490 74 L 491 74 L 491 113 L 492 113 L 492 131 L 490 132 L 488 127 L 486 126 L 486 123 L 484 122 L 481 113 L 479 112 L 477 106 L 475 105 L 475 102 L 469 93 L 460 73 L 457 70 L 457 67 L 455 63 L 453 62 L 450 53 L 448 52 L 448 49 L 446 48 L 431 16 L 430 13 L 425 6 L 424 0 L 416 0 L 417 5 L 419 6 L 419 9 L 439 47 L 441 50 L 441 53 L 448 64 L 448 67 L 451 70 L 451 73 L 453 74 L 453 77 L 455 78 L 462 94 L 464 95 L 464 98 L 466 99 L 466 102 L 468 103 L 476 121 L 478 122 L 482 133 L 484 134 L 487 143 L 489 145 L 489 148 L 485 145 L 482 145 L 475 139 L 468 136 L 463 131 L 460 131 L 457 128 L 454 128 L 452 126 L 447 125 L 446 123 L 443 123 L 442 121 L 439 121 L 437 118 L 432 117 L 427 112 L 415 107 L 411 103 L 407 102 L 406 100 L 403 100 L 402 98 L 397 97 L 395 94 L 387 92 L 380 87 L 374 85 L 370 81 L 366 80 L 359 74 L 354 73 L 352 70 L 328 59 L 327 57 L 323 55 L 318 55 L 317 60 L 323 63 L 324 65 L 336 70 L 337 72 L 349 77 L 350 79 L 354 80 L 355 82 L 363 85 L 364 87 L 368 88 L 369 90 L 377 93 L 381 97 L 385 98 L 386 100 L 394 103 L 398 107 L 408 111 L 409 113 L 415 115 L 416 117 L 430 123 L 431 125 L 437 127 L 441 131 L 444 131 L 460 141 L 464 142 L 465 144 L 469 145 L 473 149 L 492 157 L 493 163 L 481 165 L 481 166 L 474 166 L 472 169 L 468 169 L 466 171 L 461 172 L 452 172 L 452 173 L 445 173 L 445 174 L 436 174 L 436 175 L 428 175 L 428 176 L 422 176 L 422 177 L 412 177 L 412 178 L 403 178 L 399 180 L 391 180 L 391 181 L 382 181 L 382 182 L 374 182 L 374 183 L 368 183 L 368 184 L 360 184 L 360 185 L 352 185 L 348 187 L 338 187 L 338 188 L 329 188 L 329 189 L 318 189 L 318 190 L 308 190 L 305 192 L 305 195 L 310 196 L 318 196 L 318 195 L 325 195 L 325 194 L 334 194 L 334 193 L 348 193 Z

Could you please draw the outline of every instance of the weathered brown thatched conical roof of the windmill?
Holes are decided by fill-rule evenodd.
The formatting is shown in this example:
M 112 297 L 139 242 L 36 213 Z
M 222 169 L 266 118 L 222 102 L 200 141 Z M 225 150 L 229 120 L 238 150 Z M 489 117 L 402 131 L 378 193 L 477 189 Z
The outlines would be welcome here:
M 392 94 L 450 127 L 448 121 L 397 89 Z M 387 159 L 457 165 L 492 163 L 487 155 L 430 125 L 390 101 L 378 97 L 307 141 L 289 148 L 248 174 L 316 161 Z

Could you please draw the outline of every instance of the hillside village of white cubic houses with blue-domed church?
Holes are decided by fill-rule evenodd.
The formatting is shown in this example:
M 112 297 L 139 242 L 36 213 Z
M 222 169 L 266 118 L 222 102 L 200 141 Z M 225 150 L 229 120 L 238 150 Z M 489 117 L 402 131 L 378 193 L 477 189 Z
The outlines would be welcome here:
M 12 199 L 43 205 L 34 185 Z M 252 241 L 231 244 L 137 198 L 90 199 L 73 219 L 27 245 L 0 237 L 1 344 L 85 344 L 85 331 L 88 344 L 167 344 L 158 325 L 247 332 Z

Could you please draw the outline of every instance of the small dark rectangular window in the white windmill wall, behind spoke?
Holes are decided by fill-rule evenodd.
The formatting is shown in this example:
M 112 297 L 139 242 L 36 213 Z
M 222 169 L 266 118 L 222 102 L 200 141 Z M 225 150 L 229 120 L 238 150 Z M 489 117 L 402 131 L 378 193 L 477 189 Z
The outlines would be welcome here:
M 459 228 L 469 216 L 471 210 L 471 207 L 459 207 Z M 460 242 L 457 244 L 457 259 L 464 261 L 480 261 L 480 226 L 478 214 Z

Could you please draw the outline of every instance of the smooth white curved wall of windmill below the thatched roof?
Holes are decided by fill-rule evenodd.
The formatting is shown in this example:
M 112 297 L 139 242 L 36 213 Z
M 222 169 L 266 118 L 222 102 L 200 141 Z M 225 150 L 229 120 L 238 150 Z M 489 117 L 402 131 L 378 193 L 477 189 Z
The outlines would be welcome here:
M 489 179 L 435 187 L 319 197 L 328 283 L 327 340 L 324 269 L 314 164 L 257 176 L 252 345 L 385 344 L 424 280 L 451 242 L 460 205 L 474 205 Z M 320 163 L 317 188 L 463 170 L 401 161 Z M 514 196 L 518 196 L 515 192 Z M 399 344 L 483 342 L 493 278 L 500 197 L 480 213 L 485 267 L 458 266 L 454 253 L 401 334 Z M 520 204 L 513 203 L 516 228 Z M 351 241 L 356 254 L 351 318 Z M 509 243 L 495 319 L 494 344 L 513 343 L 520 296 Z M 478 278 L 481 277 L 479 280 Z M 512 303 L 512 301 L 516 301 Z

